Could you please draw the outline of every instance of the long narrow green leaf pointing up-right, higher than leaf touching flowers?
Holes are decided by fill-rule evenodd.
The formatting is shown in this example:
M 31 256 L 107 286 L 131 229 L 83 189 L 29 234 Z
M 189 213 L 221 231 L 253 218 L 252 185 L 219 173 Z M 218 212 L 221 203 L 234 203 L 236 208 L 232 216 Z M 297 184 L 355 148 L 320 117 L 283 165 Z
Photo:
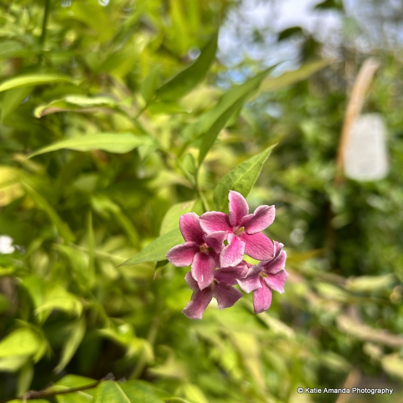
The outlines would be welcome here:
M 206 154 L 216 141 L 218 133 L 225 126 L 229 118 L 243 105 L 251 93 L 258 88 L 260 82 L 270 70 L 267 69 L 259 73 L 244 84 L 225 93 L 217 106 L 205 113 L 186 130 L 185 136 L 190 135 L 193 138 L 200 138 L 199 164 L 203 162 Z

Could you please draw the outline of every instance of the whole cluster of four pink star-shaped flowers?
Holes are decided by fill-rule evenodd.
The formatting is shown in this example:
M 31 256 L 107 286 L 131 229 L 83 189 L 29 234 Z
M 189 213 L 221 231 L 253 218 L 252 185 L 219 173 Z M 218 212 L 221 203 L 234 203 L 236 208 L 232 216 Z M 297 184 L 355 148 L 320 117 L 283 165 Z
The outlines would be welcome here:
M 193 293 L 182 311 L 191 319 L 201 319 L 213 297 L 220 309 L 234 305 L 243 296 L 233 287 L 236 284 L 246 293 L 253 292 L 255 313 L 270 307 L 272 290 L 284 292 L 288 276 L 284 245 L 261 233 L 273 223 L 275 207 L 259 206 L 249 214 L 240 193 L 230 190 L 228 198 L 228 215 L 210 211 L 200 217 L 195 213 L 181 216 L 179 228 L 185 243 L 167 253 L 173 265 L 191 265 L 185 281 Z M 251 264 L 244 254 L 260 262 Z

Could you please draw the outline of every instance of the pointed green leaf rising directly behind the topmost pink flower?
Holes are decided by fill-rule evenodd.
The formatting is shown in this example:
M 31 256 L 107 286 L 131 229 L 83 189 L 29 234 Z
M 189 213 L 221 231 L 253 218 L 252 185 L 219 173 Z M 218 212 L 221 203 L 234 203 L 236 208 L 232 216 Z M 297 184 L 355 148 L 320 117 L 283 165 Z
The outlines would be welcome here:
M 214 189 L 213 201 L 215 210 L 225 211 L 228 205 L 228 192 L 230 190 L 235 190 L 244 197 L 248 195 L 273 147 L 275 145 L 241 162 L 220 180 Z

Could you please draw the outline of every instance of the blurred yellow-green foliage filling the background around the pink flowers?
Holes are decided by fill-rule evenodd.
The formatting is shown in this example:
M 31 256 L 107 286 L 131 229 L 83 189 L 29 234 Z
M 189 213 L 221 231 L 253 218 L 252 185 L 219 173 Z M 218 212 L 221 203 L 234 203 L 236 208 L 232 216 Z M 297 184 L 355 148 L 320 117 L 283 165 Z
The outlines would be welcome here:
M 401 60 L 384 55 L 365 104 L 389 129 L 388 177 L 338 184 L 366 55 L 280 77 L 247 60 L 224 90 L 230 7 L 0 4 L 0 400 L 332 402 L 297 388 L 359 386 L 394 391 L 338 402 L 401 401 Z M 251 208 L 276 205 L 267 234 L 286 245 L 286 292 L 259 315 L 245 297 L 191 321 L 186 268 L 163 259 L 178 218 L 223 206 L 229 172 L 276 143 L 244 186 Z

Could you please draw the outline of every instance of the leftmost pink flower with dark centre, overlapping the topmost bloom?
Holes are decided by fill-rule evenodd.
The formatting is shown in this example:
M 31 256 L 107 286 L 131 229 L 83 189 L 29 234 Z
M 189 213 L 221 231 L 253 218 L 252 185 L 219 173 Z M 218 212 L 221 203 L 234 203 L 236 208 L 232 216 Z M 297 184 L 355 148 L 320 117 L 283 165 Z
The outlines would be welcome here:
M 170 249 L 166 255 L 167 259 L 175 266 L 191 264 L 191 275 L 200 290 L 204 290 L 214 279 L 226 234 L 225 232 L 205 234 L 195 213 L 181 216 L 179 228 L 186 242 Z

